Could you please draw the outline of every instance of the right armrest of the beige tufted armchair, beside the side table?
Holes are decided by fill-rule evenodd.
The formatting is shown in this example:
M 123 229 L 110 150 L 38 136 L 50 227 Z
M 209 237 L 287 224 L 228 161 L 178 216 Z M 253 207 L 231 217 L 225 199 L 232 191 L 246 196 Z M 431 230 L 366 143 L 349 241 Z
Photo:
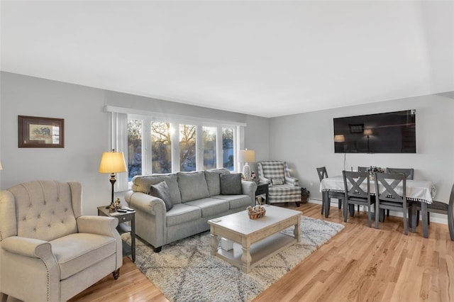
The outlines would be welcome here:
M 106 216 L 80 216 L 77 218 L 79 233 L 92 233 L 116 237 L 118 219 Z

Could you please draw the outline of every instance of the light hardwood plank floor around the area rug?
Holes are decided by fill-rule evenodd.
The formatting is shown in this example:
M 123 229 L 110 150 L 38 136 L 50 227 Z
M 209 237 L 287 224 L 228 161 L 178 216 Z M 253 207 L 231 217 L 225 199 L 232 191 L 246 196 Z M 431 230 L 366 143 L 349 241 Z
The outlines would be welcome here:
M 454 301 L 454 242 L 447 225 L 431 223 L 428 238 L 421 225 L 405 236 L 402 218 L 394 216 L 375 230 L 367 227 L 365 212 L 343 223 L 336 206 L 329 218 L 314 203 L 288 207 L 345 228 L 255 301 Z M 106 276 L 71 301 L 167 299 L 125 257 L 118 280 Z

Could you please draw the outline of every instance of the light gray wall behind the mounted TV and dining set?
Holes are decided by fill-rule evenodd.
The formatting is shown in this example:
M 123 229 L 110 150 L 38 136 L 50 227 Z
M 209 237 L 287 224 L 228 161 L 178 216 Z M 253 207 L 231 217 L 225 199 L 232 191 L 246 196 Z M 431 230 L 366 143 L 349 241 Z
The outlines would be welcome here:
M 406 109 L 416 109 L 416 154 L 349 153 L 345 169 L 413 167 L 414 178 L 433 181 L 436 199 L 447 202 L 454 182 L 454 92 L 271 118 L 270 157 L 289 162 L 311 198 L 321 199 L 316 167 L 326 166 L 330 176 L 344 169 L 344 154 L 334 153 L 333 118 Z

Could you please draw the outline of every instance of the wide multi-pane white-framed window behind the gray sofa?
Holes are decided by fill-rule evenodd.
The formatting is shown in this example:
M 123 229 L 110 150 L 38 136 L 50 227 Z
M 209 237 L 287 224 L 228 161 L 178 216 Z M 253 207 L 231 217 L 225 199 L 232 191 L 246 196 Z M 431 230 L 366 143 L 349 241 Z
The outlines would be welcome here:
M 236 125 L 158 121 L 128 114 L 128 179 L 135 175 L 236 169 Z

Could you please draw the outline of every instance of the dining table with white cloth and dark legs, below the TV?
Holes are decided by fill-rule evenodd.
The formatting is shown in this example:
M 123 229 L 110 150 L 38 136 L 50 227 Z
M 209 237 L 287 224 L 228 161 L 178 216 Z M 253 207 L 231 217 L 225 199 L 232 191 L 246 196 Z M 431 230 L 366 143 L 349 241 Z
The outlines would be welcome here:
M 392 181 L 392 180 L 390 180 Z M 367 182 L 363 182 L 361 189 L 367 191 Z M 351 188 L 349 184 L 348 189 Z M 380 193 L 383 186 L 379 186 Z M 324 206 L 325 217 L 328 217 L 330 201 L 328 200 L 328 192 L 336 191 L 345 193 L 342 176 L 326 177 L 320 181 L 320 192 L 322 194 L 322 206 Z M 397 194 L 402 194 L 402 184 L 395 189 Z M 370 194 L 375 195 L 375 181 L 370 179 Z M 411 201 L 421 201 L 421 211 L 426 211 L 427 204 L 432 203 L 432 198 L 436 195 L 436 188 L 432 181 L 406 179 L 406 198 Z

